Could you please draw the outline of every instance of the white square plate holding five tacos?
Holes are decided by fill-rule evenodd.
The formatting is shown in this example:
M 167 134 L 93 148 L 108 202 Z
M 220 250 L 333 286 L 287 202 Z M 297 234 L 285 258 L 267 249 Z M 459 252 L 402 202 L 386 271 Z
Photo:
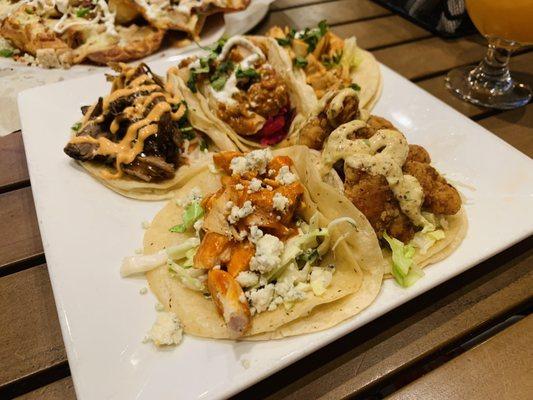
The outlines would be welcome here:
M 171 62 L 154 65 L 164 72 Z M 143 344 L 155 299 L 144 279 L 121 279 L 139 247 L 141 222 L 162 203 L 134 201 L 97 183 L 63 154 L 80 106 L 108 92 L 103 75 L 19 96 L 32 189 L 63 339 L 80 399 L 213 399 L 234 394 L 533 232 L 533 162 L 386 67 L 374 112 L 390 119 L 467 198 L 469 230 L 459 249 L 409 289 L 384 283 L 361 314 L 310 335 L 262 343 L 186 336 L 171 350 Z

